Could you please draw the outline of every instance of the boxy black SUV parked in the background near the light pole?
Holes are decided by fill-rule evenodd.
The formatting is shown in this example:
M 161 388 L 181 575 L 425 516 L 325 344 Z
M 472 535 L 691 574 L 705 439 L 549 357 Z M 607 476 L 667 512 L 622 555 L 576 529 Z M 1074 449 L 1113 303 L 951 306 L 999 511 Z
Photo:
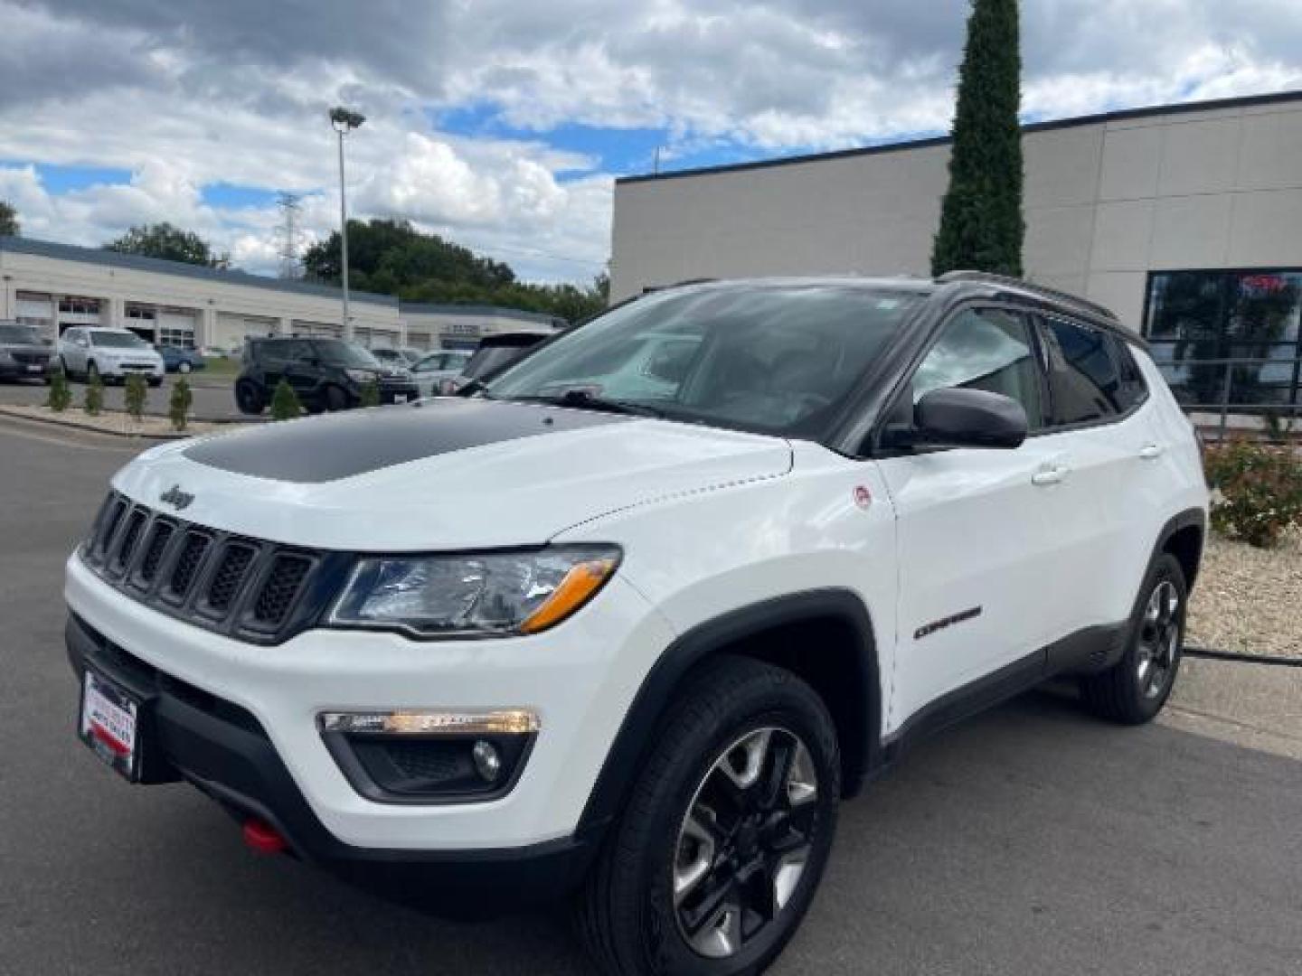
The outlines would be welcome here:
M 384 366 L 362 346 L 339 338 L 251 338 L 236 380 L 236 405 L 260 414 L 281 379 L 307 410 L 346 410 L 362 402 L 362 388 L 379 380 L 381 403 L 419 396 L 411 373 Z

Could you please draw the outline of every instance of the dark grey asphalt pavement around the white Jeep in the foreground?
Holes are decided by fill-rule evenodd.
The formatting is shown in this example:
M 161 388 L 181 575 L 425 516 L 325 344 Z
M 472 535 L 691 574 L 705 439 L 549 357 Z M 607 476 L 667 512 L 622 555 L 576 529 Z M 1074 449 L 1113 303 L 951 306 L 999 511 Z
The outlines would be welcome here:
M 139 449 L 0 420 L 0 972 L 590 972 L 555 915 L 452 924 L 254 856 L 73 738 L 62 561 Z M 844 807 L 773 972 L 1297 976 L 1302 764 L 1019 699 Z

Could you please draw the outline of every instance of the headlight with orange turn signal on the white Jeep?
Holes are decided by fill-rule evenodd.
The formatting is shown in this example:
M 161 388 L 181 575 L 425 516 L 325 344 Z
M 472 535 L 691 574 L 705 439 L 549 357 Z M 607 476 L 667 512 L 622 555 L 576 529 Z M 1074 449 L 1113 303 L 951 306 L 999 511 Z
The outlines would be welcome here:
M 418 636 L 536 634 L 591 600 L 618 562 L 620 550 L 611 545 L 365 557 L 329 622 Z

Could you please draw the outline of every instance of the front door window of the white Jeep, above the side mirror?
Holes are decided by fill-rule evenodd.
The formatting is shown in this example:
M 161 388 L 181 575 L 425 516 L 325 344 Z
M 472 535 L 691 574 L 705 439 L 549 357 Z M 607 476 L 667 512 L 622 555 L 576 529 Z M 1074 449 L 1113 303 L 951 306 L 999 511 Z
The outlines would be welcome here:
M 1029 320 L 1001 308 L 965 308 L 950 319 L 913 376 L 913 402 L 936 389 L 966 386 L 1012 397 L 1035 431 L 1044 396 Z

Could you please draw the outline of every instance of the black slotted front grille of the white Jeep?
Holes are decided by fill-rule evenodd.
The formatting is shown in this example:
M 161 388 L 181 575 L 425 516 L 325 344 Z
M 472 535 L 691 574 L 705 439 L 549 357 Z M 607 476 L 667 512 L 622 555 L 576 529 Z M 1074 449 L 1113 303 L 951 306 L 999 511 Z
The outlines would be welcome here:
M 171 617 L 255 644 L 311 626 L 346 553 L 290 548 L 182 522 L 109 495 L 81 557 L 105 583 Z

